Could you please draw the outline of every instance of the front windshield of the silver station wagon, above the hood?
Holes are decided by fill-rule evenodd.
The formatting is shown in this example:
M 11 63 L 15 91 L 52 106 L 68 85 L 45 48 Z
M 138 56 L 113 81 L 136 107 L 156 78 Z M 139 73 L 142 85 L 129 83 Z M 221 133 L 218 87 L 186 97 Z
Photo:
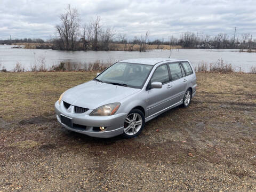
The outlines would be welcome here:
M 152 67 L 151 65 L 117 62 L 94 80 L 141 89 Z

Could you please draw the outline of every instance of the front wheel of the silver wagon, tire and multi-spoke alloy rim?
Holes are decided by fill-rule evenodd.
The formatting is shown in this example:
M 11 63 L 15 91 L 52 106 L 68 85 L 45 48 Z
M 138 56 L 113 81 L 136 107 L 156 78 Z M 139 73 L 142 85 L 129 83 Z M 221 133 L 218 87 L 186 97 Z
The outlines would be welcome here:
M 130 126 L 130 128 L 129 128 Z M 145 126 L 145 115 L 139 109 L 132 109 L 124 122 L 124 138 L 137 137 Z

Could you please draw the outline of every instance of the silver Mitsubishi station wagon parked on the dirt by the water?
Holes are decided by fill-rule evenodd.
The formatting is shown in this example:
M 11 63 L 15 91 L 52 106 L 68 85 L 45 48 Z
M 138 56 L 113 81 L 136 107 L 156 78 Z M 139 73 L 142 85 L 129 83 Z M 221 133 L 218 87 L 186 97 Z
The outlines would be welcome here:
M 164 111 L 188 107 L 195 94 L 196 74 L 188 60 L 129 59 L 62 93 L 55 111 L 71 131 L 131 138 Z

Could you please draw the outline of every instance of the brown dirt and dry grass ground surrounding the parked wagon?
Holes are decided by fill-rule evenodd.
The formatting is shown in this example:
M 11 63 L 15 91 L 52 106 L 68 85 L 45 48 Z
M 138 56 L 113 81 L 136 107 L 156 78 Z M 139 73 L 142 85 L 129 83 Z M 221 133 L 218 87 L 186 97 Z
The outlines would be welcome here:
M 63 129 L 87 73 L 0 73 L 0 191 L 256 191 L 256 75 L 197 74 L 197 95 L 133 139 Z

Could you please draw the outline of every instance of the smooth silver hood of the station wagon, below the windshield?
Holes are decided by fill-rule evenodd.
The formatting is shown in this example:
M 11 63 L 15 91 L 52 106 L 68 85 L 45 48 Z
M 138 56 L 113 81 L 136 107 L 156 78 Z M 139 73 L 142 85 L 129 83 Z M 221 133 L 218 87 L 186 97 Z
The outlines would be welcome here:
M 90 81 L 65 91 L 62 100 L 73 106 L 95 109 L 118 102 L 139 91 L 140 89 L 131 87 Z

